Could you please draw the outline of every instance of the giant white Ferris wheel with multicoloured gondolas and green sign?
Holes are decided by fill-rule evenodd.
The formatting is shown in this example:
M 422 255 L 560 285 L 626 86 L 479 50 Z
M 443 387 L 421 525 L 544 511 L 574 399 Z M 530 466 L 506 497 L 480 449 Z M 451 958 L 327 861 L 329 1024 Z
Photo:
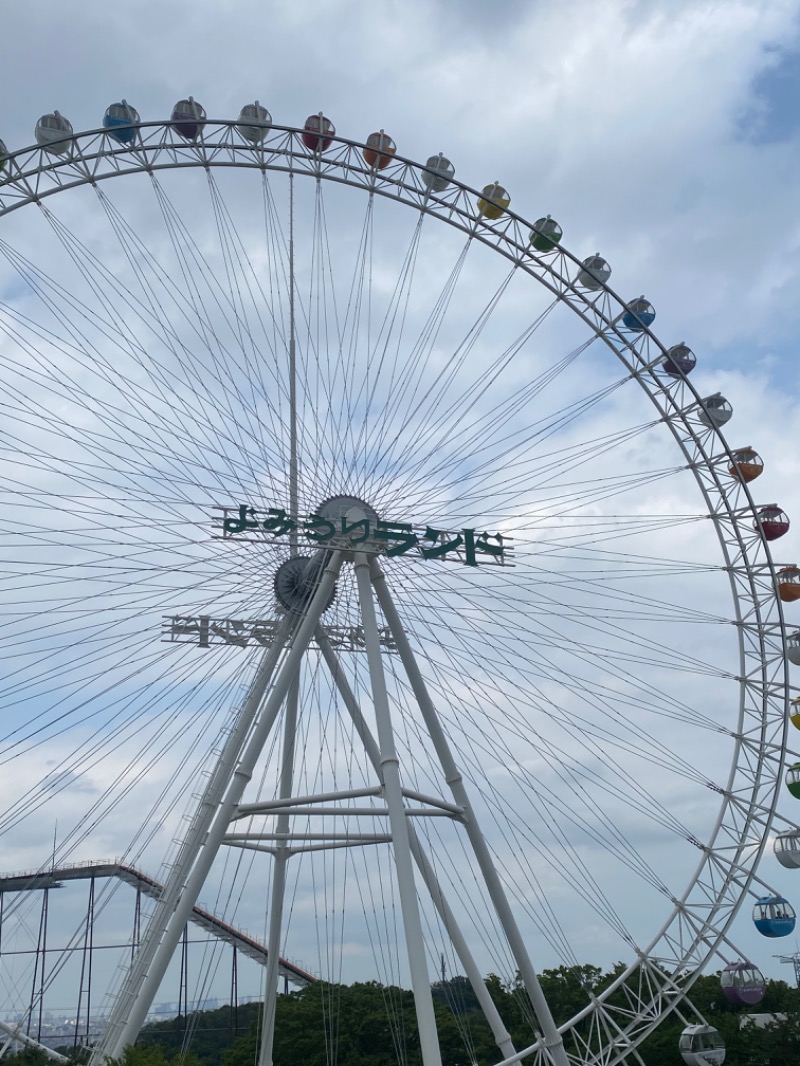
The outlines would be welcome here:
M 758 1002 L 737 912 L 795 923 L 756 867 L 800 569 L 702 359 L 555 219 L 384 131 L 189 98 L 36 140 L 0 181 L 0 826 L 17 868 L 164 862 L 98 1059 L 211 884 L 265 915 L 266 1063 L 303 921 L 326 980 L 364 954 L 412 984 L 426 1066 L 442 956 L 498 1063 L 641 1062 L 670 1015 L 722 1062 L 694 979 L 721 959 Z M 800 866 L 790 822 L 775 854 Z M 538 971 L 595 952 L 614 980 L 554 1016 Z M 521 975 L 526 1046 L 489 972 Z

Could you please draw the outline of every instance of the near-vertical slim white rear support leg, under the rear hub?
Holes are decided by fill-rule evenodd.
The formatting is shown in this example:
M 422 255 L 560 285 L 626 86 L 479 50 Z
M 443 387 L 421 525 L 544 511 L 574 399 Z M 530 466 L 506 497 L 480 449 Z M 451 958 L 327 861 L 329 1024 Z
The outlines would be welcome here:
M 286 716 L 284 718 L 284 748 L 281 756 L 281 784 L 278 798 L 288 800 L 292 792 L 294 778 L 294 745 L 298 729 L 298 705 L 300 696 L 300 675 L 291 682 L 286 700 Z M 288 834 L 291 815 L 288 811 L 277 817 L 276 830 Z M 278 969 L 281 962 L 281 930 L 284 920 L 284 900 L 286 898 L 286 867 L 289 861 L 286 841 L 275 845 L 274 865 L 272 871 L 272 892 L 270 895 L 270 928 L 267 940 L 267 973 L 263 986 L 263 1017 L 261 1019 L 261 1046 L 258 1053 L 258 1066 L 272 1066 L 272 1047 L 275 1038 L 275 1001 L 277 998 Z

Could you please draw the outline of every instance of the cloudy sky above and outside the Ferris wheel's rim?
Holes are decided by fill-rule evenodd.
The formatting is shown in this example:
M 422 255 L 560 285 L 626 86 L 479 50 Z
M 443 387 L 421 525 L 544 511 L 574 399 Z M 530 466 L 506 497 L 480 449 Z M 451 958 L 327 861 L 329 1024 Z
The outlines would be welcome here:
M 646 294 L 658 336 L 730 398 L 729 440 L 765 457 L 759 500 L 800 516 L 796 2 L 39 0 L 5 13 L 4 44 L 12 150 L 53 109 L 83 130 L 112 100 L 149 120 L 191 94 L 211 117 L 253 99 L 287 125 L 323 110 L 343 136 L 385 129 L 405 157 L 500 181 L 524 217 L 549 213 L 571 251 L 603 255 L 618 292 Z

